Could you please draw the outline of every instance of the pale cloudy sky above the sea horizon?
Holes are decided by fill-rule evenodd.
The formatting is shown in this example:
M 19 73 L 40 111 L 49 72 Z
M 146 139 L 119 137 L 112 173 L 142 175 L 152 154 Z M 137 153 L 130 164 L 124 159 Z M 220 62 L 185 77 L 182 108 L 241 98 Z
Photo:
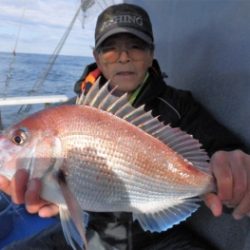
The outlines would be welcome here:
M 92 0 L 93 1 L 93 0 Z M 0 0 L 0 51 L 52 54 L 80 0 Z M 98 14 L 120 0 L 95 0 L 77 17 L 60 54 L 92 56 Z

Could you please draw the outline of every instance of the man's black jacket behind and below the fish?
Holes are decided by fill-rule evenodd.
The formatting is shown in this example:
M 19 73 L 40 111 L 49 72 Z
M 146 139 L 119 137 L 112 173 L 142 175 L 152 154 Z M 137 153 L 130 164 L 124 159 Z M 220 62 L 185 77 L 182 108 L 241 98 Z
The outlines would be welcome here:
M 91 64 L 86 68 L 75 84 L 77 94 L 81 92 L 82 81 L 95 68 L 96 64 Z M 102 76 L 101 84 L 104 82 L 106 79 Z M 167 85 L 156 60 L 153 62 L 153 67 L 149 69 L 146 83 L 133 102 L 135 107 L 142 104 L 146 104 L 145 109 L 152 110 L 154 116 L 159 116 L 159 120 L 192 134 L 201 142 L 210 156 L 217 150 L 233 150 L 243 147 L 239 139 L 195 101 L 189 91 L 178 90 Z M 145 249 L 146 246 L 154 245 L 162 239 L 171 242 L 166 235 L 188 235 L 187 232 L 179 233 L 180 230 L 183 231 L 182 225 L 174 227 L 168 233 L 143 232 L 138 223 L 132 222 L 131 214 L 128 213 L 91 213 L 90 218 L 89 230 L 91 232 L 89 234 L 94 235 L 92 238 L 95 241 L 98 238 L 105 249 L 115 249 L 113 247 L 131 249 L 131 246 L 133 249 Z

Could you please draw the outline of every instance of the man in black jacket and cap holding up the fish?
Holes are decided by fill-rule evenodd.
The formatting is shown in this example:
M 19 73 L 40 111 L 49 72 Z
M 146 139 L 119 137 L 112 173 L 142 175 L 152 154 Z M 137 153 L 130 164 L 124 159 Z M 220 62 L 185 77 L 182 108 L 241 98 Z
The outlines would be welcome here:
M 118 86 L 114 95 L 127 92 L 133 106 L 146 104 L 145 109 L 152 109 L 153 115 L 164 123 L 192 134 L 211 156 L 210 166 L 217 184 L 217 193 L 204 197 L 206 205 L 214 216 L 222 214 L 223 205 L 233 208 L 235 219 L 247 216 L 250 156 L 242 151 L 241 142 L 218 124 L 189 92 L 174 89 L 163 81 L 154 60 L 154 37 L 148 14 L 130 4 L 107 8 L 97 21 L 94 57 L 96 64 L 89 65 L 76 83 L 79 96 L 100 76 L 100 85 L 110 80 L 111 88 Z M 58 213 L 55 205 L 40 199 L 41 182 L 28 180 L 24 170 L 18 171 L 11 182 L 2 177 L 0 189 L 9 193 L 14 202 L 25 202 L 30 213 L 38 212 L 42 217 Z M 97 244 L 96 249 L 211 249 L 188 235 L 183 224 L 170 232 L 149 234 L 132 223 L 130 214 L 123 213 L 91 213 L 88 237 L 91 244 Z

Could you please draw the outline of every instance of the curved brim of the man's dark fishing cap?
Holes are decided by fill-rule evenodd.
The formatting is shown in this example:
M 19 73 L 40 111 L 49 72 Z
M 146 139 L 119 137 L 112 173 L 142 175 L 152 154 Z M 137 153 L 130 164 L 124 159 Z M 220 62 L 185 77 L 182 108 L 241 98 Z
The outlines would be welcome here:
M 119 33 L 129 33 L 132 34 L 140 39 L 142 39 L 144 42 L 148 44 L 153 44 L 153 40 L 150 36 L 146 35 L 145 33 L 135 30 L 133 28 L 127 28 L 127 27 L 117 27 L 115 29 L 112 29 L 108 32 L 106 32 L 95 44 L 95 48 L 98 48 L 104 40 L 106 40 L 108 37 L 119 34 Z

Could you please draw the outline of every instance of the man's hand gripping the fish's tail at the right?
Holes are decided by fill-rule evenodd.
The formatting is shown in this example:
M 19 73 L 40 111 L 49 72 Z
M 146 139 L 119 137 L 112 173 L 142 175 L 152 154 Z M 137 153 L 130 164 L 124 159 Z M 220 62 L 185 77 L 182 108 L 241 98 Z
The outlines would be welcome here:
M 250 215 L 250 155 L 241 150 L 218 151 L 212 156 L 210 165 L 217 194 L 205 195 L 204 201 L 212 213 L 220 216 L 225 205 L 234 208 L 235 219 Z

